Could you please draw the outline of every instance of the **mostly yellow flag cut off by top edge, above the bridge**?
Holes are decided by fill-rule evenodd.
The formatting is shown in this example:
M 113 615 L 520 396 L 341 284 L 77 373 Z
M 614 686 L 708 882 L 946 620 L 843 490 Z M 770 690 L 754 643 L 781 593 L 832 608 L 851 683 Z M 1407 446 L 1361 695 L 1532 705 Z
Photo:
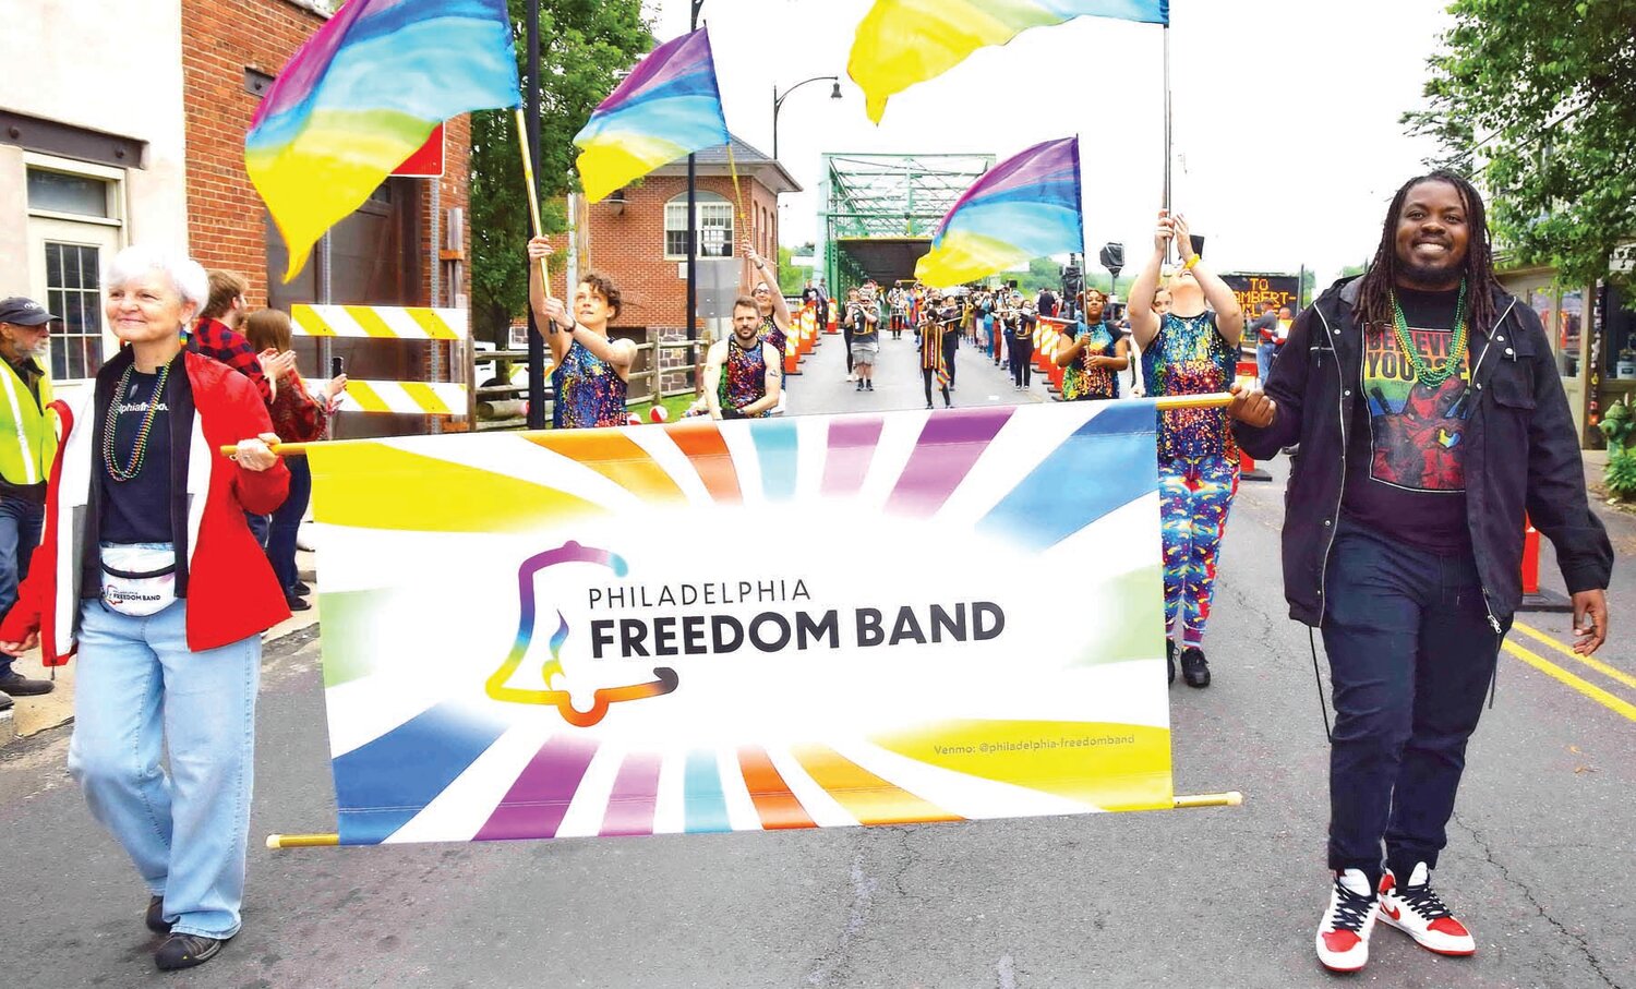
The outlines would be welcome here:
M 888 98 L 942 75 L 977 49 L 1078 16 L 1168 25 L 1170 0 L 875 0 L 857 26 L 847 74 L 879 124 Z

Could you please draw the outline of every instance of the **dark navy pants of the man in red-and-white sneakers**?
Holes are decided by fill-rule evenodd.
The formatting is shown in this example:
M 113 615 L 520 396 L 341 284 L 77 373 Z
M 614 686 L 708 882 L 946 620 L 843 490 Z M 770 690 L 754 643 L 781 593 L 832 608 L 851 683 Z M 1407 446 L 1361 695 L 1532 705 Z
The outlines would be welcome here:
M 1332 870 L 1436 868 L 1482 716 L 1500 636 L 1477 567 L 1342 520 L 1330 554 L 1324 649 L 1335 688 Z

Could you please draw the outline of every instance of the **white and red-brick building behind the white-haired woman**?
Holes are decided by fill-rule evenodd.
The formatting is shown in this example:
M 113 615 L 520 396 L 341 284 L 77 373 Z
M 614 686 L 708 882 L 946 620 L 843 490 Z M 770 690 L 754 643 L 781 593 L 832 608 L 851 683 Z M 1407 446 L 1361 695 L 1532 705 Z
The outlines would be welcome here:
M 326 273 L 335 302 L 465 304 L 466 278 L 452 286 L 450 275 L 468 242 L 447 234 L 466 206 L 465 118 L 447 126 L 442 180 L 388 180 L 293 283 L 278 281 L 285 248 L 245 175 L 244 132 L 327 16 L 316 0 L 0 0 L 0 23 L 28 39 L 0 78 L 0 294 L 34 296 L 65 317 L 51 368 L 64 391 L 116 347 L 98 273 L 134 242 L 185 247 L 206 268 L 244 275 L 255 307 L 319 301 Z M 425 379 L 434 363 L 430 345 L 334 350 L 355 378 Z M 316 342 L 298 353 L 304 373 L 322 371 Z M 438 353 L 438 366 L 450 356 Z M 381 418 L 368 432 L 424 428 L 420 417 Z

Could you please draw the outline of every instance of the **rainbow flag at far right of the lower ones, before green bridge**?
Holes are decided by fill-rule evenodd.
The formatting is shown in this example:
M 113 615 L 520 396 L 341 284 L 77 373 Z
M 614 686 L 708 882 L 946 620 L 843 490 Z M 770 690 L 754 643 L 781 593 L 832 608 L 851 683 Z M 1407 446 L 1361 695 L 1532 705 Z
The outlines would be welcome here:
M 978 178 L 937 224 L 915 278 L 960 284 L 1065 252 L 1085 252 L 1078 137 L 1036 144 Z

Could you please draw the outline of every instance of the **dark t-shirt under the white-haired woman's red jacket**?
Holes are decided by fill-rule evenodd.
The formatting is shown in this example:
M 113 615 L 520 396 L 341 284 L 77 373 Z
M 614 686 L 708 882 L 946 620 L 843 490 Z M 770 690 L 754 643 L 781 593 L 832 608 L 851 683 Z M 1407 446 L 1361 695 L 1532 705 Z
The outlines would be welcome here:
M 185 374 L 187 371 L 178 360 L 172 365 L 170 373 Z M 113 458 L 121 471 L 131 466 L 137 435 L 142 432 L 142 420 L 147 415 L 147 407 L 154 402 L 157 386 L 159 374 L 142 374 L 131 368 L 129 392 L 116 391 L 113 397 L 113 407 L 108 410 L 103 428 L 113 430 Z M 165 392 L 165 396 L 159 396 L 159 407 L 154 409 L 154 425 L 147 432 L 142 466 L 136 477 L 116 481 L 100 463 L 103 451 L 97 451 L 103 486 L 100 535 L 105 543 L 170 543 L 175 538 L 170 531 L 169 383 Z

